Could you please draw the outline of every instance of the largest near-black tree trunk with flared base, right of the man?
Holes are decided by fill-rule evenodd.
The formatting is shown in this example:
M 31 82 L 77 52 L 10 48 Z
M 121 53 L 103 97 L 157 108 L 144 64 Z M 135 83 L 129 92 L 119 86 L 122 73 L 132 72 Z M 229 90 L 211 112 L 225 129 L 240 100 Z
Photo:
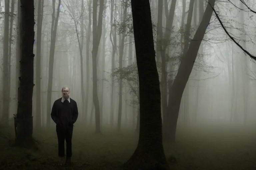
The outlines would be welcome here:
M 131 6 L 140 87 L 140 134 L 137 148 L 126 166 L 128 169 L 167 169 L 150 4 L 131 0 Z

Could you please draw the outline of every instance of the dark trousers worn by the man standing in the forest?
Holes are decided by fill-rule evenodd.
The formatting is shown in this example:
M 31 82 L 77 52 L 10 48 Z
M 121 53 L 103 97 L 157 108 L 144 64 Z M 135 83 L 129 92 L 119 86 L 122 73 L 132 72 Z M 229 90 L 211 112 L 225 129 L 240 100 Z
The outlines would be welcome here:
M 68 158 L 72 156 L 72 134 L 73 126 L 63 127 L 62 125 L 56 125 L 56 132 L 58 137 L 58 155 L 59 157 L 65 156 L 64 141 L 66 139 L 66 155 Z

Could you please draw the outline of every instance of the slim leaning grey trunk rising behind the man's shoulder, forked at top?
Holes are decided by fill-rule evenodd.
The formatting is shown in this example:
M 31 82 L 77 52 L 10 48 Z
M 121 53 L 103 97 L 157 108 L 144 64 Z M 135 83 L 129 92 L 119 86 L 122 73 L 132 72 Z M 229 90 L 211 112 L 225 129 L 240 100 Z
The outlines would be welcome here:
M 52 101 L 52 80 L 53 80 L 53 65 L 54 65 L 54 51 L 55 51 L 55 42 L 57 34 L 57 26 L 60 15 L 60 2 L 58 4 L 56 19 L 55 16 L 55 0 L 52 0 L 53 4 L 53 13 L 52 13 L 52 34 L 51 34 L 51 46 L 50 46 L 50 56 L 49 56 L 49 72 L 48 72 L 48 89 L 47 89 L 47 120 L 46 126 L 50 127 L 51 122 L 51 101 Z

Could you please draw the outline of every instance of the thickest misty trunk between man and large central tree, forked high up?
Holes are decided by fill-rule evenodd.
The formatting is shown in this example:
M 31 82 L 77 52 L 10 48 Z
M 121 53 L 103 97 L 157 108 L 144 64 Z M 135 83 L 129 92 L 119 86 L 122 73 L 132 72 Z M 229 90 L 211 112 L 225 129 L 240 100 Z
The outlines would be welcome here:
M 97 92 L 97 53 L 102 33 L 102 18 L 104 0 L 100 0 L 100 10 L 98 16 L 97 25 L 97 1 L 93 1 L 92 12 L 92 34 L 93 34 L 93 46 L 92 46 L 92 79 L 93 79 L 93 103 L 95 107 L 95 133 L 101 133 L 100 129 L 100 105 Z

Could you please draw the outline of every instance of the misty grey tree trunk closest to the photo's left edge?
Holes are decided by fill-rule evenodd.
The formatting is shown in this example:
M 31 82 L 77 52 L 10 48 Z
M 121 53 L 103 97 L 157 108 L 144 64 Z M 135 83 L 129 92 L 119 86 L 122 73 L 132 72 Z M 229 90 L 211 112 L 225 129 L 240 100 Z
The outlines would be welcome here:
M 9 84 L 9 56 L 8 56 L 8 42 L 9 42 L 9 6 L 10 1 L 4 1 L 4 45 L 3 45 L 3 120 L 8 123 L 9 119 L 9 105 L 10 105 L 10 84 Z

